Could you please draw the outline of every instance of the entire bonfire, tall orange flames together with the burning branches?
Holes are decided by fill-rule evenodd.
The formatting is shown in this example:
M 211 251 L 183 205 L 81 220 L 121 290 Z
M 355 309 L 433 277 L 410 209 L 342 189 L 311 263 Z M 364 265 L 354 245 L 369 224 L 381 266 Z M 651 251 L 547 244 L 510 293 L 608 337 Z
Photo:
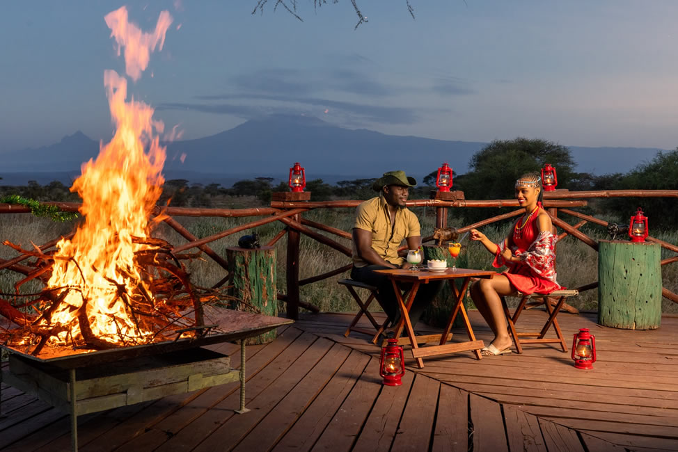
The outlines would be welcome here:
M 104 19 L 118 55 L 124 48 L 127 75 L 138 80 L 152 51 L 162 49 L 172 17 L 163 11 L 152 33 L 128 22 L 125 7 Z M 51 353 L 102 350 L 199 334 L 203 303 L 221 298 L 191 286 L 181 263 L 191 256 L 178 255 L 172 245 L 150 236 L 162 220 L 150 217 L 164 183 L 163 123 L 152 119 L 150 106 L 134 98 L 127 102 L 125 76 L 107 70 L 104 86 L 116 132 L 95 161 L 83 164 L 71 187 L 83 200 L 84 223 L 72 238 L 58 241 L 56 252 L 5 242 L 35 258 L 16 284 L 17 294 L 31 280 L 46 285 L 28 302 L 0 300 L 0 314 L 18 325 L 4 334 L 6 344 L 33 355 L 45 346 Z

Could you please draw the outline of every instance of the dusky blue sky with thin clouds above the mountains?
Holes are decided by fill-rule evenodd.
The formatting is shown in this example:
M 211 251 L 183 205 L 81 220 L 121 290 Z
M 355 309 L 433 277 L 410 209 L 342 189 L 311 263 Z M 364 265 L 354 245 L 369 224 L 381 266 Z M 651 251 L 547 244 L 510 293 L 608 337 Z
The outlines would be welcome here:
M 292 113 L 445 140 L 678 146 L 677 1 L 410 0 L 412 19 L 404 0 L 358 0 L 357 30 L 349 0 L 297 0 L 303 22 L 269 3 L 134 2 L 145 31 L 161 10 L 174 22 L 130 92 L 183 138 Z M 0 152 L 109 140 L 103 74 L 124 63 L 104 15 L 123 5 L 2 3 Z

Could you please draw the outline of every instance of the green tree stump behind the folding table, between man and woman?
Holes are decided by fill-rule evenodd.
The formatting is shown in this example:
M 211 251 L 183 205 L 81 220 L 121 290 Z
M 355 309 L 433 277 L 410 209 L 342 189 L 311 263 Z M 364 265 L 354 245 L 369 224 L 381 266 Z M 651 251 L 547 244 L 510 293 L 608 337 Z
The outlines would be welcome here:
M 451 267 L 453 264 L 452 256 L 450 256 L 450 252 L 446 245 L 440 247 L 438 245 L 424 245 L 424 261 L 421 265 L 426 266 L 426 262 L 430 259 L 446 260 L 448 262 L 448 267 Z M 462 251 L 462 254 L 457 257 L 457 268 L 464 268 L 467 264 L 468 259 L 466 259 L 466 255 Z M 462 288 L 460 281 L 453 281 L 457 284 L 458 289 Z M 452 293 L 450 283 L 446 282 L 438 295 L 436 295 L 436 298 L 433 299 L 429 307 L 424 311 L 424 314 L 422 314 L 422 321 L 431 326 L 444 328 L 452 314 L 454 301 L 455 294 Z M 466 297 L 464 298 L 464 307 L 466 309 L 473 307 L 473 302 L 471 301 L 470 296 L 468 296 L 468 291 L 466 291 Z M 452 324 L 452 328 L 462 328 L 463 326 L 464 321 L 462 315 L 457 314 L 457 318 L 455 318 L 455 323 Z

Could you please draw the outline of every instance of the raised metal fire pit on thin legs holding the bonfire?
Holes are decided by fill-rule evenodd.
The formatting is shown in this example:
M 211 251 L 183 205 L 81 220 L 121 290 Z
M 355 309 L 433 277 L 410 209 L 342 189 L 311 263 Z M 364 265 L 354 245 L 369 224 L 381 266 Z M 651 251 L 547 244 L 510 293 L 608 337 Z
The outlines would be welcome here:
M 113 350 L 70 350 L 68 355 L 60 350 L 60 355 L 54 357 L 36 357 L 3 346 L 10 351 L 10 358 L 8 369 L 0 372 L 0 382 L 70 412 L 74 451 L 77 451 L 77 416 L 80 414 L 184 394 L 238 379 L 240 409 L 237 412 L 247 412 L 244 340 L 240 341 L 239 370 L 230 368 L 227 355 L 201 347 L 258 336 L 292 321 L 230 309 L 210 309 L 208 314 L 218 327 L 191 339 Z

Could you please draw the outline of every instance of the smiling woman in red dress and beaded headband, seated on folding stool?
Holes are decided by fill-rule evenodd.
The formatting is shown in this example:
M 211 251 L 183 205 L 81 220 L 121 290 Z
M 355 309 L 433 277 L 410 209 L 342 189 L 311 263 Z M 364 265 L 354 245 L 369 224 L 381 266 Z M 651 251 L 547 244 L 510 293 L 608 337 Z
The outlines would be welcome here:
M 508 270 L 491 280 L 478 280 L 471 287 L 471 298 L 487 321 L 494 340 L 482 349 L 483 355 L 511 353 L 511 337 L 500 296 L 521 293 L 551 293 L 561 289 L 555 281 L 555 242 L 551 217 L 542 207 L 542 178 L 535 172 L 516 181 L 516 197 L 525 213 L 517 220 L 509 236 L 492 243 L 478 229 L 471 229 L 471 240 L 480 241 L 494 254 L 492 266 Z

